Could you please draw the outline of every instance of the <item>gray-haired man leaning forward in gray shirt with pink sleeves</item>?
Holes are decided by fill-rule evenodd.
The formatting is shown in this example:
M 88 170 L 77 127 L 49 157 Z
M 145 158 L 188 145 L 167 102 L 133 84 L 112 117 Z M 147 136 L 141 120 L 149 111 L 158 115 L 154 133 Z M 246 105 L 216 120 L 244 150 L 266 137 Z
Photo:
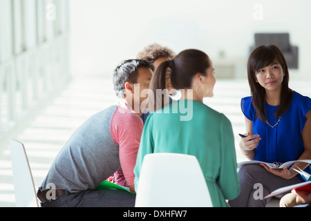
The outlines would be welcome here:
M 122 61 L 115 68 L 113 84 L 120 104 L 91 116 L 66 142 L 39 187 L 41 206 L 135 206 L 133 169 L 143 124 L 142 111 L 134 107 L 142 102 L 141 90 L 149 88 L 152 68 L 142 59 Z M 133 193 L 97 189 L 120 169 L 119 183 Z

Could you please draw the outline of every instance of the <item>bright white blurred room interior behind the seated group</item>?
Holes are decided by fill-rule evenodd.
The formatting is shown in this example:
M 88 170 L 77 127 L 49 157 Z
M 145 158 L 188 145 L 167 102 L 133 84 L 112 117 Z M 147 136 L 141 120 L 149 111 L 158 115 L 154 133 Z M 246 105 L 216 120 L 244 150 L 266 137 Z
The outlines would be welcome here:
M 149 44 L 209 55 L 218 82 L 205 104 L 234 135 L 245 132 L 240 102 L 256 46 L 279 46 L 290 87 L 311 97 L 310 10 L 309 0 L 1 0 L 0 206 L 15 205 L 8 140 L 25 144 L 39 186 L 73 131 L 115 104 L 115 66 Z

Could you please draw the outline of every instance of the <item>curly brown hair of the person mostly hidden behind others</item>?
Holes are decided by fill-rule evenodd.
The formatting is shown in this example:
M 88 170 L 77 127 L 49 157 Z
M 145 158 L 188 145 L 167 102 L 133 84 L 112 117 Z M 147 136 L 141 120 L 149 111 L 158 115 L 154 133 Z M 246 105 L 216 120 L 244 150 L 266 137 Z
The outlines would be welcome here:
M 138 52 L 136 58 L 153 62 L 160 57 L 169 57 L 173 59 L 175 57 L 175 53 L 173 50 L 161 46 L 160 44 L 151 44 L 150 46 L 144 48 L 144 50 Z

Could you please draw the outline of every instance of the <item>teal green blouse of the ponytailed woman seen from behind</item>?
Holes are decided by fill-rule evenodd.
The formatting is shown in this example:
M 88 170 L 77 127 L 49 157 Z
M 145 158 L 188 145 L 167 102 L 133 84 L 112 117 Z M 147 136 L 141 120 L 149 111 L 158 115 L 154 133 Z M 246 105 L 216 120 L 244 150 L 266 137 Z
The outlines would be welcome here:
M 149 153 L 196 156 L 215 207 L 227 206 L 225 200 L 233 200 L 240 193 L 232 124 L 202 102 L 180 100 L 149 115 L 134 169 L 135 187 L 144 155 Z M 182 184 L 182 180 L 176 180 L 176 184 Z

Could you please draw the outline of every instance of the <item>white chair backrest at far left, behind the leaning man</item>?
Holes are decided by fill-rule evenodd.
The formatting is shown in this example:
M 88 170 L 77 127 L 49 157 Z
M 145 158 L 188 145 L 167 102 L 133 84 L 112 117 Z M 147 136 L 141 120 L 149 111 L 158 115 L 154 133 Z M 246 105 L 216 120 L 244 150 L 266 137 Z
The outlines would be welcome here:
M 39 207 L 35 182 L 32 178 L 25 147 L 21 142 L 10 140 L 15 205 L 17 207 Z

